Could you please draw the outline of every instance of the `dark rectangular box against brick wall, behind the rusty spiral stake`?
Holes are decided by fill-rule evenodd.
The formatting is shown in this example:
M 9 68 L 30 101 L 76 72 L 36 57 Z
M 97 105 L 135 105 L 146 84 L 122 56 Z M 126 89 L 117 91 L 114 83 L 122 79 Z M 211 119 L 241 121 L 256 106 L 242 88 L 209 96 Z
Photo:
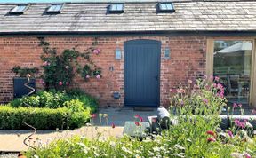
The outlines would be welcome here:
M 28 78 L 15 77 L 13 78 L 13 98 L 21 98 L 22 96 L 28 94 L 30 90 L 24 84 L 28 82 Z M 36 89 L 36 79 L 30 79 L 28 86 Z

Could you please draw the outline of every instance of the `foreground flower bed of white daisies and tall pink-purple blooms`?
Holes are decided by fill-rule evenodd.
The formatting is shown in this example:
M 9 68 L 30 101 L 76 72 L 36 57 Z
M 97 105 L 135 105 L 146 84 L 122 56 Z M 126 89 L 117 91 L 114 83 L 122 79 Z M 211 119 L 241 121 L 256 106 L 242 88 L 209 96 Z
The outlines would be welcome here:
M 218 80 L 218 78 L 216 78 Z M 215 81 L 216 81 L 215 79 Z M 160 135 L 148 135 L 142 141 L 137 138 L 73 137 L 60 139 L 27 156 L 39 157 L 231 157 L 231 154 L 256 156 L 256 138 L 231 135 L 220 130 L 218 115 L 226 99 L 218 83 L 198 80 L 188 89 L 179 88 L 172 94 L 172 121 L 179 122 Z M 189 86 L 191 88 L 189 88 Z M 195 88 L 194 88 L 195 87 Z M 208 101 L 206 101 L 206 99 Z M 183 102 L 183 103 L 182 103 Z M 203 109 L 202 109 L 203 108 Z M 140 116 L 137 116 L 140 118 Z M 93 117 L 92 117 L 93 118 Z M 142 122 L 142 120 L 140 120 Z M 140 128 L 140 122 L 135 122 Z M 115 128 L 115 125 L 112 125 Z M 159 129 L 161 130 L 161 129 Z M 241 156 L 240 156 L 241 157 Z

